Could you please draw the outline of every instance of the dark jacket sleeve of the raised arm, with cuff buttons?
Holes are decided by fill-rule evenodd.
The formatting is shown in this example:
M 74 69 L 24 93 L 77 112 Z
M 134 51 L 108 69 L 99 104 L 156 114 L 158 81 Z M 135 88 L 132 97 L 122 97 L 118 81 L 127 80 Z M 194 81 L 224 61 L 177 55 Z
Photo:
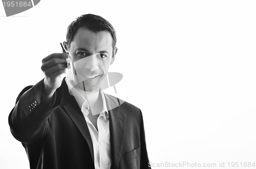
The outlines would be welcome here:
M 58 88 L 51 102 L 42 102 L 44 79 L 28 86 L 18 95 L 8 122 L 12 135 L 27 144 L 44 137 L 49 130 L 49 117 L 62 100 L 62 88 Z

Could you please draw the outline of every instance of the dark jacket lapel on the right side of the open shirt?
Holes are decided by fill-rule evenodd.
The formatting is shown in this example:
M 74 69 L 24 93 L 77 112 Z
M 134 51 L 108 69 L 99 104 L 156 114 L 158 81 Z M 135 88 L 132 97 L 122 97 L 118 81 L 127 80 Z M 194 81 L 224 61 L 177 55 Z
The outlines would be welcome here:
M 111 103 L 116 102 L 116 98 L 113 98 L 105 94 L 106 106 L 108 110 L 111 109 Z M 119 100 L 118 100 L 119 103 Z M 117 104 L 118 104 L 117 103 Z M 120 103 L 119 103 L 120 104 Z M 118 164 L 121 157 L 121 152 L 123 148 L 125 127 L 126 127 L 126 114 L 122 111 L 120 106 L 109 110 L 110 115 L 110 142 L 111 142 L 111 158 L 112 167 L 118 168 Z

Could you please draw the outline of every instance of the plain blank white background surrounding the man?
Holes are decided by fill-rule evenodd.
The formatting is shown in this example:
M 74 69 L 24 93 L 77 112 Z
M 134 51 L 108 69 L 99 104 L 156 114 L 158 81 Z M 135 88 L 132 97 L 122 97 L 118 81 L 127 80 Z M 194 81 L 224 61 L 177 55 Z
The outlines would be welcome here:
M 115 27 L 110 71 L 123 74 L 119 97 L 142 110 L 150 161 L 256 165 L 255 9 L 255 1 L 42 0 L 6 17 L 1 4 L 0 168 L 29 168 L 9 112 L 86 13 Z

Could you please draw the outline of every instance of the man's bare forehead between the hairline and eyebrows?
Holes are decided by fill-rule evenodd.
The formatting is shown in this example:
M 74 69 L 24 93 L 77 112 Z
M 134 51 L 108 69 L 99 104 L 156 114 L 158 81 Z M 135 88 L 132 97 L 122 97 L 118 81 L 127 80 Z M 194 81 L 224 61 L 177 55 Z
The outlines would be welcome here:
M 112 37 L 109 32 L 95 33 L 88 29 L 79 28 L 71 42 L 74 48 L 86 48 L 87 50 L 112 50 Z

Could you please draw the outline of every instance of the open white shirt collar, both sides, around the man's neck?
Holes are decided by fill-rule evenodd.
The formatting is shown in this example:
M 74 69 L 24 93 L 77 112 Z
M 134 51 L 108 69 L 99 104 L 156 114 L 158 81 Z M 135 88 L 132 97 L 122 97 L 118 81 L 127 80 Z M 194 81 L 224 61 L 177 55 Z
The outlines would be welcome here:
M 66 81 L 66 83 L 67 83 L 67 86 L 68 86 L 68 88 L 69 88 L 70 93 L 72 93 L 72 95 L 73 95 L 73 96 L 75 97 L 75 99 L 76 99 L 77 104 L 80 106 L 81 111 L 82 111 L 86 116 L 88 116 L 88 114 L 89 114 L 89 111 L 88 111 L 88 110 L 89 110 L 89 108 L 90 108 L 90 105 L 89 105 L 88 101 L 87 101 L 85 98 L 83 98 L 83 97 L 77 97 L 77 96 L 79 96 L 79 95 L 82 96 L 82 92 L 83 92 L 83 91 L 82 91 L 82 90 L 79 90 L 79 89 L 77 89 L 77 88 L 74 88 L 68 78 L 65 78 L 65 81 Z M 99 117 L 103 116 L 104 121 L 106 121 L 106 119 L 109 119 L 109 111 L 108 111 L 108 108 L 106 107 L 106 100 L 105 100 L 104 92 L 103 92 L 101 89 L 99 90 L 99 92 L 100 92 L 100 95 L 101 95 L 101 97 L 102 97 L 102 102 L 103 102 L 103 109 L 102 109 L 102 111 L 100 112 Z M 82 100 L 81 100 L 81 99 L 82 99 Z M 84 112 L 84 110 L 87 110 L 87 111 Z

